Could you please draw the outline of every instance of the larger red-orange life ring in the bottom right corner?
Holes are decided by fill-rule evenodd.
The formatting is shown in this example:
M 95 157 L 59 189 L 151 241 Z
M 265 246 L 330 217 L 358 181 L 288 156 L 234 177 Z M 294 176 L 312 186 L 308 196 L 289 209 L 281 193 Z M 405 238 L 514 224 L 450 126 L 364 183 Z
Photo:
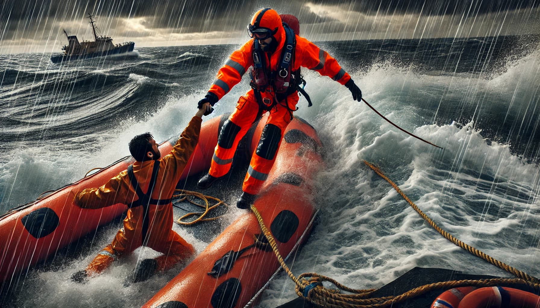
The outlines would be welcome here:
M 458 308 L 540 308 L 540 297 L 522 290 L 493 286 L 470 292 Z

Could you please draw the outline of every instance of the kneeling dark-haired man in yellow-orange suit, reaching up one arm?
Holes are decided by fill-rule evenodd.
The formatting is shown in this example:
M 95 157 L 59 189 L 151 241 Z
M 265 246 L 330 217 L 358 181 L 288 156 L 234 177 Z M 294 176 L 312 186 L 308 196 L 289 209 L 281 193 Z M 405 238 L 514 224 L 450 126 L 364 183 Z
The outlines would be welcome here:
M 99 209 L 124 203 L 129 210 L 124 227 L 118 231 L 112 243 L 99 252 L 86 269 L 76 272 L 71 277 L 73 281 L 84 282 L 87 277 L 99 275 L 114 260 L 141 245 L 164 255 L 141 262 L 131 277 L 131 282 L 146 280 L 155 272 L 168 270 L 193 255 L 193 246 L 171 229 L 171 198 L 180 175 L 197 146 L 201 117 L 209 109 L 210 104 L 199 108 L 171 153 L 162 159 L 150 133 L 135 136 L 129 147 L 136 162 L 102 187 L 87 188 L 75 196 L 73 202 L 81 208 Z

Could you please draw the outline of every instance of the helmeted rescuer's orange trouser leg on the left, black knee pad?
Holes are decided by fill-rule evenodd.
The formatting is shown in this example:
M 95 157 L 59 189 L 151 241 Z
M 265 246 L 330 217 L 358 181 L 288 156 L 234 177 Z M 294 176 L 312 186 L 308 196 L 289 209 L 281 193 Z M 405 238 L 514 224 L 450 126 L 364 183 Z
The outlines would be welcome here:
M 215 146 L 214 156 L 210 164 L 208 173 L 214 177 L 224 176 L 231 169 L 234 152 L 238 147 L 238 142 L 247 133 L 255 118 L 259 115 L 259 104 L 253 96 L 253 90 L 249 91 L 245 96 L 238 99 L 237 106 L 234 112 L 229 116 L 227 121 L 239 128 L 238 130 L 231 129 L 232 133 L 227 133 L 221 128 L 218 145 Z M 227 124 L 224 124 L 224 126 Z M 224 134 L 222 134 L 224 133 Z M 226 138 L 227 140 L 223 140 Z M 231 140 L 232 139 L 232 140 Z M 224 146 L 228 148 L 225 148 Z

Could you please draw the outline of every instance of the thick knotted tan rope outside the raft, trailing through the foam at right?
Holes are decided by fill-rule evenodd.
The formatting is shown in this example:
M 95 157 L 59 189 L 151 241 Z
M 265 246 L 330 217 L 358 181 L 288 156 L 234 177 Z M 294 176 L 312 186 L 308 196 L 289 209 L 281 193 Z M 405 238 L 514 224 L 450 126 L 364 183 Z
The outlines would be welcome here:
M 515 268 L 512 268 L 512 266 L 509 266 L 503 262 L 498 261 L 497 259 L 494 259 L 486 254 L 484 252 L 474 248 L 470 247 L 470 245 L 465 244 L 461 242 L 459 239 L 455 238 L 454 236 L 450 235 L 448 232 L 442 230 L 440 227 L 438 227 L 426 214 L 424 214 L 417 206 L 414 204 L 414 202 L 410 201 L 410 199 L 401 191 L 399 187 L 390 179 L 388 179 L 387 176 L 385 176 L 381 170 L 375 166 L 373 166 L 372 163 L 369 163 L 367 161 L 364 161 L 367 166 L 372 168 L 375 173 L 380 175 L 384 180 L 389 182 L 392 187 L 405 199 L 411 207 L 413 207 L 417 213 L 426 220 L 431 227 L 433 227 L 435 230 L 437 230 L 440 234 L 442 234 L 445 238 L 447 238 L 452 243 L 458 245 L 459 247 L 469 251 L 471 254 L 483 258 L 485 261 L 488 261 L 491 264 L 494 264 L 498 266 L 499 268 L 508 271 L 518 278 L 492 278 L 492 279 L 479 279 L 479 280 L 452 280 L 447 282 L 437 282 L 427 285 L 422 285 L 417 288 L 414 288 L 412 290 L 409 290 L 407 292 L 402 293 L 398 296 L 386 296 L 386 297 L 377 297 L 377 298 L 370 298 L 369 296 L 371 293 L 376 291 L 376 289 L 364 289 L 364 290 L 357 290 L 349 288 L 343 284 L 340 284 L 335 279 L 332 279 L 327 276 L 319 275 L 318 273 L 308 272 L 303 273 L 298 278 L 294 276 L 294 274 L 289 270 L 287 264 L 285 264 L 284 259 L 281 257 L 281 254 L 278 250 L 278 247 L 276 245 L 276 242 L 274 240 L 274 237 L 272 236 L 271 232 L 266 228 L 266 225 L 264 221 L 262 220 L 262 217 L 255 208 L 255 206 L 251 206 L 251 210 L 255 214 L 255 217 L 257 217 L 257 221 L 259 222 L 259 225 L 261 227 L 262 232 L 268 239 L 268 243 L 272 247 L 272 250 L 274 251 L 275 256 L 278 258 L 278 261 L 281 265 L 281 267 L 287 272 L 287 275 L 291 277 L 293 282 L 296 284 L 296 294 L 300 297 L 303 297 L 307 299 L 309 302 L 318 305 L 318 306 L 324 306 L 329 308 L 378 308 L 378 307 L 386 307 L 395 303 L 403 302 L 406 299 L 414 298 L 416 296 L 422 295 L 423 293 L 437 290 L 437 289 L 451 289 L 451 288 L 457 288 L 458 286 L 496 286 L 500 284 L 505 285 L 511 285 L 511 284 L 519 284 L 519 285 L 527 285 L 529 288 L 532 288 L 536 291 L 540 291 L 540 283 L 539 280 L 536 277 L 532 277 L 528 275 L 527 273 L 524 273 L 522 271 L 519 271 Z M 307 278 L 307 279 L 306 279 Z M 334 284 L 338 289 L 328 289 L 325 286 L 322 285 L 323 281 L 330 282 Z M 353 294 L 343 294 L 340 293 L 341 291 L 347 291 Z

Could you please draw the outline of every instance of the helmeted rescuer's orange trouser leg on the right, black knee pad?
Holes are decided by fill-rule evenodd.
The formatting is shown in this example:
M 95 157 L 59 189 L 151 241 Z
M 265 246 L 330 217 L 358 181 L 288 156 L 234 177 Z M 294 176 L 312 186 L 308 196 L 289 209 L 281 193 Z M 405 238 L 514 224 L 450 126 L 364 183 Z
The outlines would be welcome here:
M 296 108 L 298 94 L 289 95 L 287 102 L 289 108 L 278 104 L 270 111 L 261 139 L 251 156 L 244 184 L 242 184 L 242 190 L 248 194 L 258 194 L 265 183 L 268 173 L 274 165 L 275 158 L 278 156 L 277 152 L 283 139 L 283 132 L 292 120 L 292 112 L 289 109 L 294 110 Z M 266 138 L 262 138 L 265 135 Z

